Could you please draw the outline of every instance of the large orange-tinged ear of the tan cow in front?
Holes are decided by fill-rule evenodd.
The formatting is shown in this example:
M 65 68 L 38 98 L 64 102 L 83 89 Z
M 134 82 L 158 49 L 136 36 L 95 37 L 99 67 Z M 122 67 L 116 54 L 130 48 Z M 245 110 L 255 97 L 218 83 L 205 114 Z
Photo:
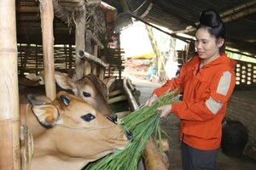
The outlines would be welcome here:
M 33 105 L 32 111 L 43 127 L 54 127 L 59 120 L 58 110 L 54 105 Z

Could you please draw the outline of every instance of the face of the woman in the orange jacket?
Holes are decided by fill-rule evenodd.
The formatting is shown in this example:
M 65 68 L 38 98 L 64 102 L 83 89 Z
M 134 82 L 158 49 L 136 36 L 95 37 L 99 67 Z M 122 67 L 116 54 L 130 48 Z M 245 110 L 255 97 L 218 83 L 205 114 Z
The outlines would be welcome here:
M 219 57 L 219 48 L 223 45 L 224 40 L 217 42 L 216 37 L 213 37 L 205 28 L 196 31 L 195 39 L 197 54 L 204 59 L 205 65 Z

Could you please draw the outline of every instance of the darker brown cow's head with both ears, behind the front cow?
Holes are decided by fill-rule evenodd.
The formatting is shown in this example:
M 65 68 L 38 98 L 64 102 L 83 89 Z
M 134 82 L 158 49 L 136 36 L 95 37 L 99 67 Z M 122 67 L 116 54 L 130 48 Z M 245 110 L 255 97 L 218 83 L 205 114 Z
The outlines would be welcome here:
M 88 74 L 80 80 L 73 81 L 61 72 L 55 71 L 55 81 L 61 88 L 72 90 L 75 96 L 88 102 L 104 116 L 116 117 L 108 105 L 108 88 L 115 79 L 116 77 L 111 77 L 108 81 L 102 82 L 96 75 Z

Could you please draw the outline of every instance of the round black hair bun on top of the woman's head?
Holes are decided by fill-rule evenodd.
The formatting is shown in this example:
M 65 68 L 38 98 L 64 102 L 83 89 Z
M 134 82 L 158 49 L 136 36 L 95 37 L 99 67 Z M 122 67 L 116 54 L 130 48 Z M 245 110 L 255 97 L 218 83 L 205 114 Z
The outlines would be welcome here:
M 201 12 L 200 19 L 201 25 L 217 27 L 222 24 L 222 20 L 217 12 L 213 8 L 208 8 Z

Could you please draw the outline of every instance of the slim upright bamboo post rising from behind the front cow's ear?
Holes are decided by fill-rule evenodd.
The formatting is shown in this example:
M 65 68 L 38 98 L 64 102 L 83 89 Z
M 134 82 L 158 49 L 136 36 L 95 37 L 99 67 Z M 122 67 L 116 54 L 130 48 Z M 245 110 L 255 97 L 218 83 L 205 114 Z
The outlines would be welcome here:
M 53 34 L 54 10 L 52 0 L 41 0 L 40 11 L 43 34 L 45 93 L 49 99 L 54 100 L 56 96 L 56 87 Z

